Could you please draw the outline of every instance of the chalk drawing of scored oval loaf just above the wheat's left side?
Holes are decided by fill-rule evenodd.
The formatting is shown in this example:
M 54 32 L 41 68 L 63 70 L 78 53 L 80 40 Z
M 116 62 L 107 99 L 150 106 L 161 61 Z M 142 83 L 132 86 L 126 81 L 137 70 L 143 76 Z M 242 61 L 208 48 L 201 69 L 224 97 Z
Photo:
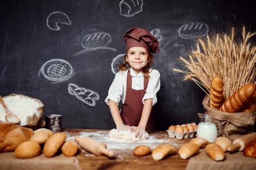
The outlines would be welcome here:
M 179 28 L 179 37 L 181 39 L 197 39 L 207 35 L 209 27 L 205 23 L 192 22 L 182 25 Z

